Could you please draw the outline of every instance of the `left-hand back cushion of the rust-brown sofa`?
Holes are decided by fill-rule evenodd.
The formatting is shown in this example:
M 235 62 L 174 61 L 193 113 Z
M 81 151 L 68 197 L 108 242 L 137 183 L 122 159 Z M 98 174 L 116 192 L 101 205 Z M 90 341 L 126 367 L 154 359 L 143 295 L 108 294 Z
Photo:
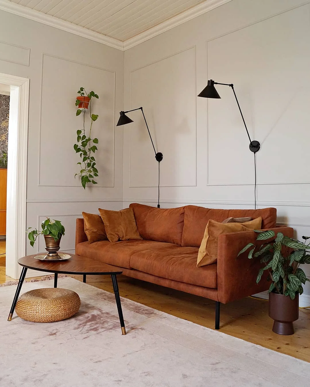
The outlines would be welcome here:
M 166 209 L 138 203 L 132 203 L 129 207 L 133 209 L 143 239 L 181 245 L 184 207 Z

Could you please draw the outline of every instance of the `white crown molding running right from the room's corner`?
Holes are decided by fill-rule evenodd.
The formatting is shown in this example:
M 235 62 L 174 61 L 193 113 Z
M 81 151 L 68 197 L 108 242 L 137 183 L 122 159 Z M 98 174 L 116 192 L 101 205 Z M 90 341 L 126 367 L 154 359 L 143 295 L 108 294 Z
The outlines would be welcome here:
M 231 0 L 208 0 L 202 4 L 196 5 L 179 15 L 172 17 L 171 19 L 158 24 L 158 26 L 152 27 L 133 38 L 127 39 L 124 41 L 124 51 L 139 45 L 140 43 L 145 42 L 148 39 L 154 38 L 154 36 L 160 35 L 169 29 L 172 29 L 180 24 L 183 24 L 191 19 L 194 19 L 197 16 L 205 14 L 208 11 L 211 11 L 214 8 L 219 7 L 225 3 L 230 2 Z

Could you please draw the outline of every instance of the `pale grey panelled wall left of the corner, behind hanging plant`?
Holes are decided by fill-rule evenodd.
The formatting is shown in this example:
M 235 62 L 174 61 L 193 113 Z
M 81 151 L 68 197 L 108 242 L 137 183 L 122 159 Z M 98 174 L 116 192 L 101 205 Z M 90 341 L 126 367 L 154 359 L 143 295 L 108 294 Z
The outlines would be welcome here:
M 30 79 L 27 227 L 39 227 L 45 216 L 61 220 L 63 251 L 74 249 L 75 219 L 82 211 L 122 206 L 122 128 L 115 130 L 115 111 L 123 106 L 123 59 L 122 51 L 0 11 L 0 72 Z M 81 86 L 99 95 L 92 134 L 99 139 L 100 176 L 85 191 L 74 179 Z M 43 243 L 34 249 L 27 244 L 28 254 L 39 250 Z

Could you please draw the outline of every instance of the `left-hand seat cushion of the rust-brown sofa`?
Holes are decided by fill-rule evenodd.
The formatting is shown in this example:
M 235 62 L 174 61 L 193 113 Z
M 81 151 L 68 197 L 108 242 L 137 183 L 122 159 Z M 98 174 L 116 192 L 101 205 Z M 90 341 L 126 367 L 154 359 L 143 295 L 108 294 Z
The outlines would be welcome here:
M 173 243 L 146 241 L 146 240 L 129 240 L 111 243 L 108 240 L 91 243 L 82 242 L 76 245 L 75 253 L 84 257 L 92 258 L 106 264 L 131 269 L 129 265 L 130 257 L 136 252 L 143 250 L 160 250 L 178 247 Z M 198 251 L 198 250 L 197 250 Z M 196 257 L 197 259 L 197 257 Z

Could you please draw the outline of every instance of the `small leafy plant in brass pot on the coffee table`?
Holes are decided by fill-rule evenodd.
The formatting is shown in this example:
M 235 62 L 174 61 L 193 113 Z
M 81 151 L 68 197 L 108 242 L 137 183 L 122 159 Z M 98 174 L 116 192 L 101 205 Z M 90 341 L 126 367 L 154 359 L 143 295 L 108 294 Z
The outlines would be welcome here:
M 53 222 L 50 218 L 47 218 L 44 222 L 41 223 L 42 230 L 38 231 L 36 228 L 28 233 L 28 238 L 30 240 L 30 245 L 33 247 L 34 242 L 39 235 L 43 235 L 45 239 L 45 250 L 47 250 L 47 255 L 45 259 L 57 259 L 60 258 L 58 255 L 58 250 L 60 249 L 60 239 L 62 235 L 65 235 L 65 228 L 59 220 L 53 219 Z M 29 231 L 29 227 L 26 232 Z

